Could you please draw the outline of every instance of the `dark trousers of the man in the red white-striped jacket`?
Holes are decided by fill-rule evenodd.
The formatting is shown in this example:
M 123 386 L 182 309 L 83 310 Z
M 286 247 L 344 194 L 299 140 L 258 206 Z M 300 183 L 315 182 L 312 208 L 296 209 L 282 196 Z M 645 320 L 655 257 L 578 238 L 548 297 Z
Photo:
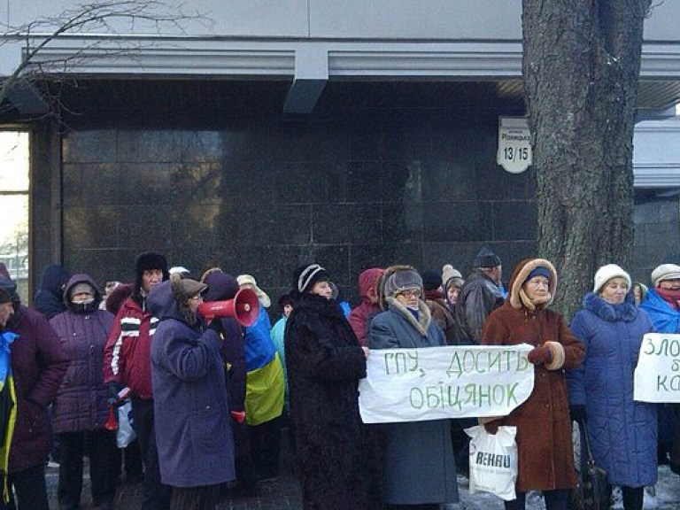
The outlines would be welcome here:
M 167 510 L 170 507 L 170 487 L 160 481 L 156 429 L 153 425 L 153 400 L 132 398 L 135 434 L 144 464 L 143 510 Z

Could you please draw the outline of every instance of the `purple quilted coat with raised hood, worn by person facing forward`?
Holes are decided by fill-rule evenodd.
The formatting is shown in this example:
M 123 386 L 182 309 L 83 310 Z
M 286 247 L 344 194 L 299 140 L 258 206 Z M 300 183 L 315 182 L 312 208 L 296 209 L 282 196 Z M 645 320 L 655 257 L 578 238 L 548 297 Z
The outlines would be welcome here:
M 98 309 L 102 294 L 87 274 L 73 275 L 64 295 L 68 297 L 73 285 L 81 282 L 95 289 L 95 300 L 88 309 L 65 299 L 66 312 L 50 319 L 69 359 L 53 406 L 52 428 L 56 433 L 102 429 L 109 410 L 104 388 L 104 344 L 115 317 Z

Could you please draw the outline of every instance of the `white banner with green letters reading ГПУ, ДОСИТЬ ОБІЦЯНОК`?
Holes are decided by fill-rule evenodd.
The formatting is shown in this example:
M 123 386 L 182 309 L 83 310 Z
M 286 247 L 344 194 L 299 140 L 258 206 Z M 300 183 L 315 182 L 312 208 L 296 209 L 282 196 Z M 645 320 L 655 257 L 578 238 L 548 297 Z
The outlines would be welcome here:
M 534 389 L 529 344 L 372 349 L 359 381 L 364 423 L 505 416 Z

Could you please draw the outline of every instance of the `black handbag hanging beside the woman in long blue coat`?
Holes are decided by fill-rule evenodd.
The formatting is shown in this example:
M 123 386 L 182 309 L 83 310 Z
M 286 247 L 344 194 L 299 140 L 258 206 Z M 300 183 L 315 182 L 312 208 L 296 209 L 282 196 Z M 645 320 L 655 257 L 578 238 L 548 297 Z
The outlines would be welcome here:
M 581 436 L 581 466 L 578 470 L 578 483 L 572 493 L 571 507 L 575 510 L 607 510 L 610 506 L 611 492 L 607 485 L 607 471 L 592 458 L 591 441 L 583 421 L 578 423 Z

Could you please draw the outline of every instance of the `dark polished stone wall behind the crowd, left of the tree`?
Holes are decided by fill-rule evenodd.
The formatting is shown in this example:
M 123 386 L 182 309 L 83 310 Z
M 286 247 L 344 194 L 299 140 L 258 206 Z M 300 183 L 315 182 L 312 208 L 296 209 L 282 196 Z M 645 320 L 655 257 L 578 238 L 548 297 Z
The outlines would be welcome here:
M 153 249 L 197 275 L 214 265 L 253 274 L 275 301 L 294 267 L 317 260 L 353 304 L 367 267 L 452 263 L 467 274 L 488 244 L 509 276 L 534 254 L 533 174 L 496 164 L 498 116 L 516 111 L 338 107 L 336 97 L 291 120 L 281 101 L 243 101 L 223 114 L 202 103 L 152 113 L 137 99 L 136 118 L 97 105 L 72 121 L 64 265 L 129 280 L 135 254 Z

